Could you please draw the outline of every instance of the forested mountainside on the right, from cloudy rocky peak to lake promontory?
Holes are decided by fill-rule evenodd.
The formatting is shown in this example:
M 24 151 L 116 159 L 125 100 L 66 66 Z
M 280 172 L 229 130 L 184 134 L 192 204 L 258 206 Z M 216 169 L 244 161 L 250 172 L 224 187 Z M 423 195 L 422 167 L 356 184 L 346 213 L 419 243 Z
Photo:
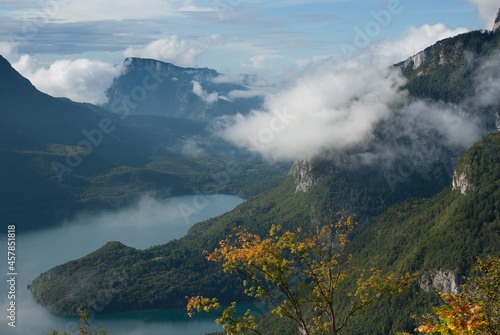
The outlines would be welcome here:
M 87 292 L 105 289 L 97 284 L 99 280 L 119 281 L 124 274 L 134 281 L 114 292 L 111 303 L 100 312 L 179 308 L 189 295 L 217 296 L 223 303 L 242 299 L 242 288 L 234 278 L 207 262 L 202 251 L 217 247 L 235 226 L 261 235 L 270 224 L 294 229 L 323 219 L 333 207 L 357 215 L 360 229 L 353 236 L 352 250 L 362 266 L 423 274 L 408 295 L 389 300 L 370 314 L 376 316 L 372 319 L 370 315 L 359 318 L 349 333 L 362 334 L 360 329 L 368 329 L 368 322 L 375 333 L 394 333 L 398 327 L 412 330 L 410 315 L 436 302 L 434 294 L 424 289 L 439 283 L 439 278 L 466 273 L 476 255 L 500 250 L 495 238 L 499 103 L 486 99 L 494 94 L 483 94 L 496 92 L 495 80 L 491 87 L 483 87 L 487 90 L 477 90 L 483 72 L 494 73 L 491 64 L 500 49 L 498 39 L 498 33 L 471 32 L 439 42 L 418 66 L 398 65 L 408 79 L 410 103 L 416 103 L 411 106 L 419 108 L 411 109 L 412 113 L 406 113 L 405 106 L 398 109 L 393 119 L 377 125 L 369 145 L 296 161 L 292 173 L 276 188 L 193 226 L 180 240 L 139 251 L 138 262 L 121 267 L 128 257 L 120 251 L 123 248 L 107 246 L 96 251 L 99 257 L 91 254 L 41 274 L 33 281 L 32 291 L 56 313 L 75 313 L 82 301 L 92 301 Z M 425 83 L 432 80 L 437 83 L 426 88 Z M 455 95 L 453 87 L 462 93 Z M 456 143 L 439 132 L 440 126 L 455 135 L 449 138 Z M 477 126 L 478 137 L 494 133 L 467 151 L 464 143 L 468 142 L 461 141 L 467 128 L 462 126 Z M 384 161 L 387 157 L 395 159 Z M 96 282 L 79 290 L 74 282 L 98 261 L 106 263 L 106 271 L 94 273 Z M 148 290 L 143 289 L 146 285 Z

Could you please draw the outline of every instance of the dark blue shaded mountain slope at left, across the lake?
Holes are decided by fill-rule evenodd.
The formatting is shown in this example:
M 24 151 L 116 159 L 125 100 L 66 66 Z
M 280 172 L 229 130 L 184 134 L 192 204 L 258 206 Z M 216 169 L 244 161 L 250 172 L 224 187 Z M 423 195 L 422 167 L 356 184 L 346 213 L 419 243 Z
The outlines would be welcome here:
M 267 182 L 252 186 L 256 174 L 270 176 L 273 184 L 283 173 L 247 160 L 247 153 L 213 136 L 204 121 L 118 115 L 54 98 L 1 56 L 0 78 L 2 227 L 40 228 L 88 208 L 126 205 L 145 192 L 192 193 L 213 181 L 210 171 L 231 160 L 254 172 L 234 176 L 221 191 L 246 189 L 248 196 Z

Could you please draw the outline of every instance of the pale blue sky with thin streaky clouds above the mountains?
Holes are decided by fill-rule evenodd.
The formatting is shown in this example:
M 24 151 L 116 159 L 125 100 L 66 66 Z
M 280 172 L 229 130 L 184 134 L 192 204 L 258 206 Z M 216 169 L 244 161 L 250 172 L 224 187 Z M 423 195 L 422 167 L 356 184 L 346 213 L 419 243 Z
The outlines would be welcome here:
M 370 43 L 400 39 L 425 24 L 489 28 L 500 1 L 5 0 L 0 53 L 12 62 L 28 54 L 39 66 L 150 55 L 224 73 L 274 73 L 318 57 L 345 57 L 342 47 L 389 6 L 397 11 L 387 21 L 381 16 L 380 31 L 371 26 Z M 154 41 L 164 43 L 144 50 Z

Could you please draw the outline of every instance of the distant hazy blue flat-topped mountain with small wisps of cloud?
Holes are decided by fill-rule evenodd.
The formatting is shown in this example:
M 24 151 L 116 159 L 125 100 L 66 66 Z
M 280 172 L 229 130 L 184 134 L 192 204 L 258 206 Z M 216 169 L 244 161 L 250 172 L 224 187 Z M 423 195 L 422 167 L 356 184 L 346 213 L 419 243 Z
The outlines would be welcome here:
M 124 71 L 107 91 L 102 107 L 117 114 L 162 115 L 211 120 L 223 115 L 247 114 L 262 103 L 260 97 L 237 98 L 259 80 L 242 75 L 223 76 L 215 70 L 181 68 L 153 59 L 127 58 Z

